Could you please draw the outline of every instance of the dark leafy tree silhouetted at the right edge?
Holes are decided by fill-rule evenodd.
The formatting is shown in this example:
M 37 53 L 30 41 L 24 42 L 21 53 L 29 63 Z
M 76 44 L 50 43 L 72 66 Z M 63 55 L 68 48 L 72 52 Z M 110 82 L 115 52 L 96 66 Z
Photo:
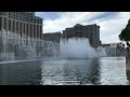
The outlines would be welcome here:
M 129 55 L 129 48 L 130 48 L 130 19 L 128 20 L 128 25 L 125 29 L 121 30 L 121 33 L 119 34 L 119 40 L 125 41 L 127 43 L 127 50 Z

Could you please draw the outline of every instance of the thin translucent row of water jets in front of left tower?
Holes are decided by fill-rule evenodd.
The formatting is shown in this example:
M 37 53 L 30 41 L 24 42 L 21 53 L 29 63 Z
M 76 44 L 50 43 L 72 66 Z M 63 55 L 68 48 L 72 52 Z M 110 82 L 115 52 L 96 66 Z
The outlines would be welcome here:
M 53 56 L 54 50 L 55 45 L 52 41 L 0 30 L 0 61 Z

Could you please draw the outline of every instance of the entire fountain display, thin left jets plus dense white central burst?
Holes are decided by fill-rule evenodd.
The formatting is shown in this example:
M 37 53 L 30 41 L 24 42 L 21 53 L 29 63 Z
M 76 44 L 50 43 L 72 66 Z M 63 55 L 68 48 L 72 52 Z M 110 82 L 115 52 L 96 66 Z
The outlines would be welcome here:
M 87 38 L 61 39 L 60 43 L 0 31 L 0 61 L 39 58 L 93 58 L 105 56 L 105 50 L 91 47 Z

